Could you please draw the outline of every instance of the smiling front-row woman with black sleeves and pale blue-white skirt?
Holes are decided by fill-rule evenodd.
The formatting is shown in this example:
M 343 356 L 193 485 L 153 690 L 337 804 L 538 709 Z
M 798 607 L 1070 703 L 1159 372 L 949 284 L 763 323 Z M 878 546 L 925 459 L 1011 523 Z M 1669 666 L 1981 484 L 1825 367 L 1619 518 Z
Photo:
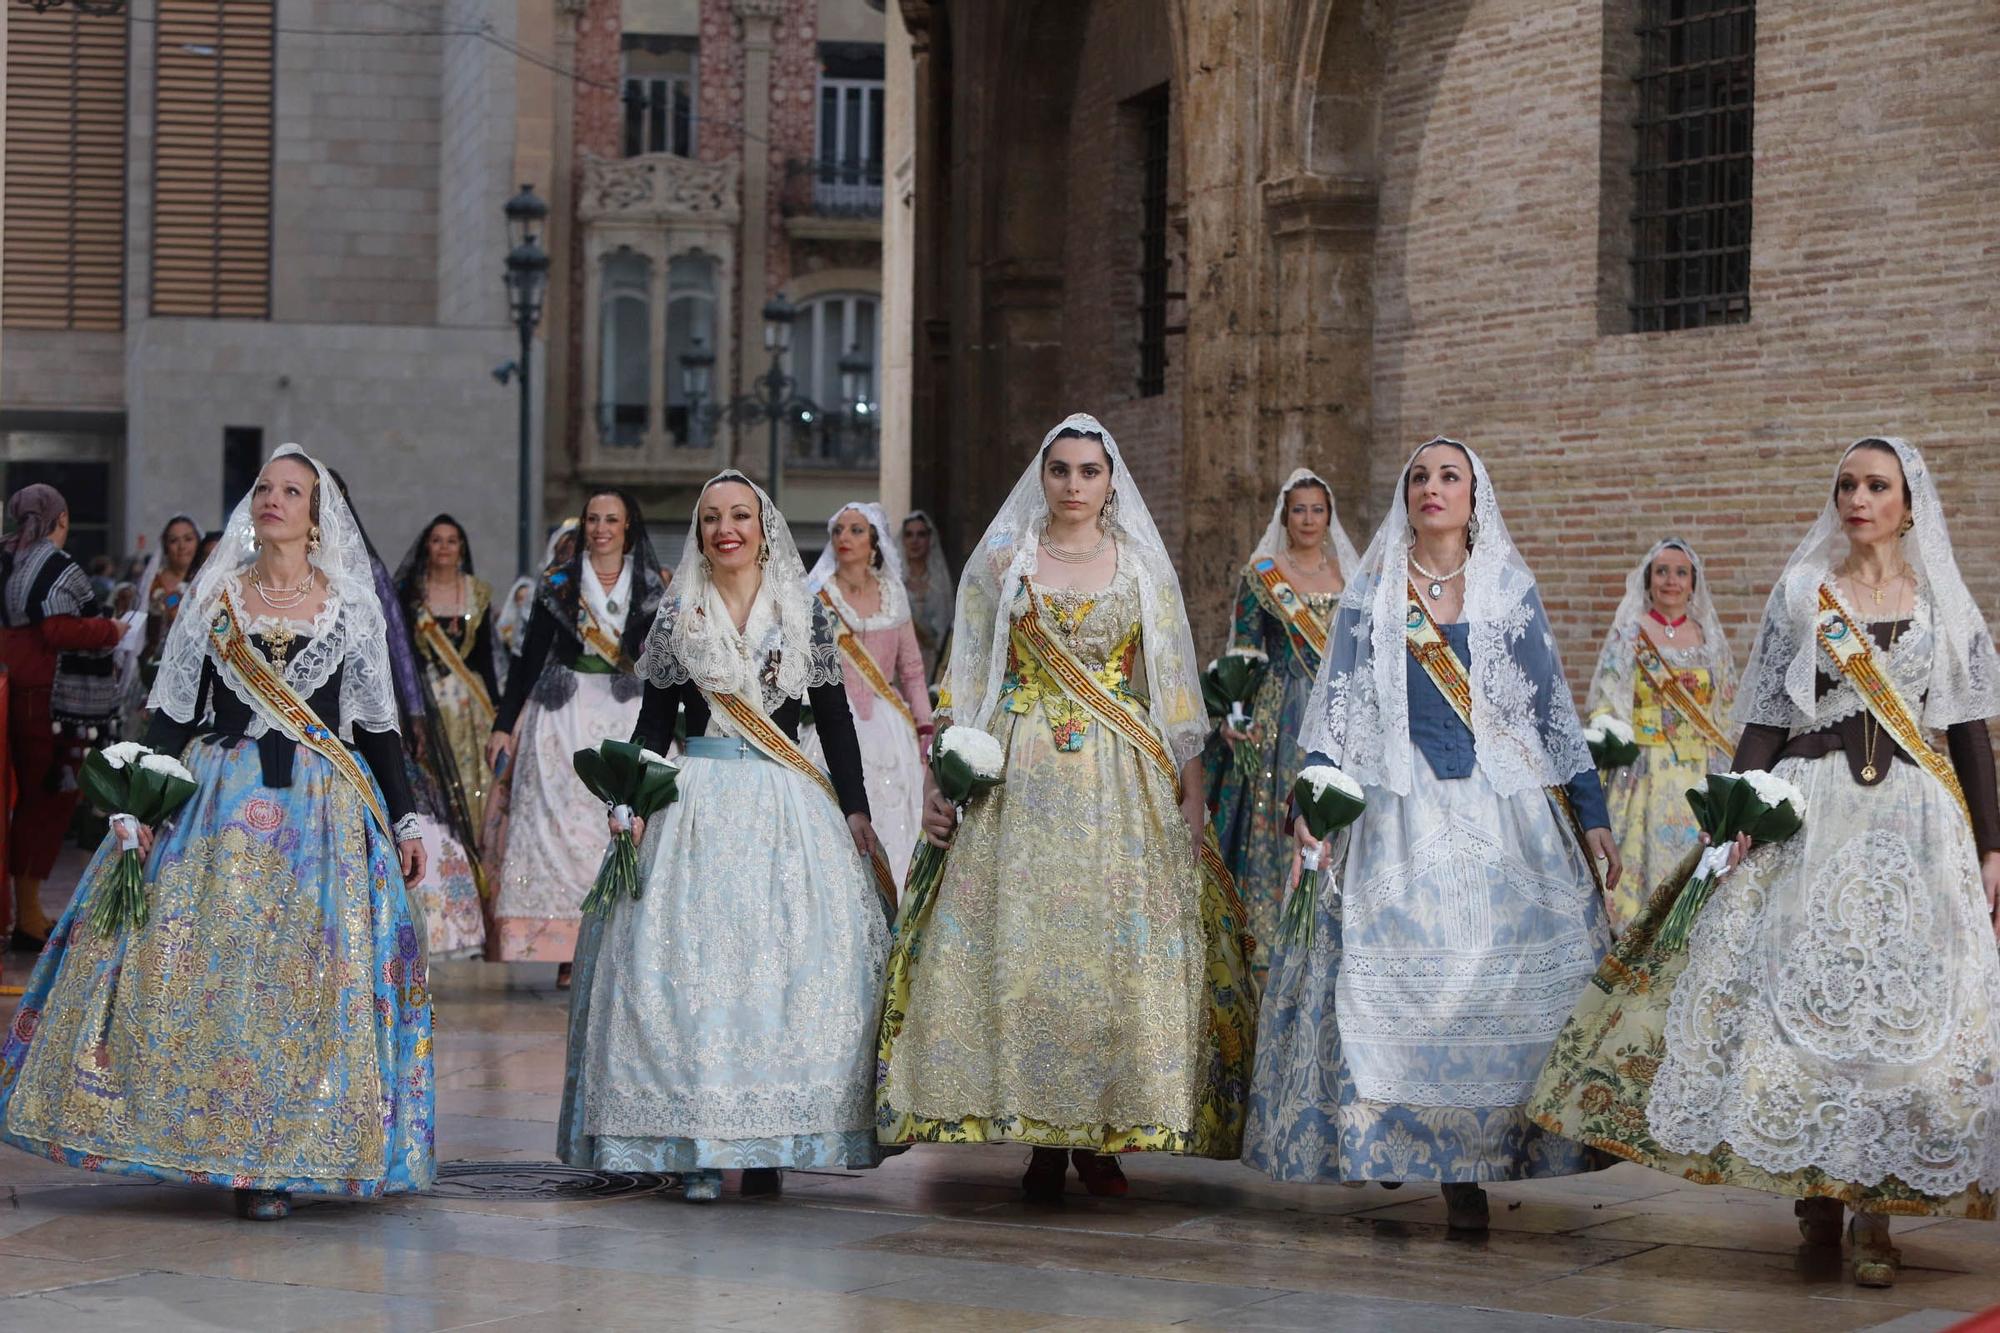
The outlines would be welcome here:
M 686 715 L 680 799 L 640 829 L 644 893 L 576 951 L 558 1143 L 572 1165 L 872 1167 L 888 911 L 824 606 L 784 516 L 742 472 L 702 488 L 640 660 L 634 741 Z M 798 751 L 810 701 L 828 773 Z M 602 825 L 600 825 L 602 827 Z

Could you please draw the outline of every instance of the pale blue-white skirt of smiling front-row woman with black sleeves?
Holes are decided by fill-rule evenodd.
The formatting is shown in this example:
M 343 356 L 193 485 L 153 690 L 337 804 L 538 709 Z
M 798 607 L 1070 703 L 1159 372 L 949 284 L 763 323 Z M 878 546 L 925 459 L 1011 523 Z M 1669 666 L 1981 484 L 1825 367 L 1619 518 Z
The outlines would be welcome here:
M 642 897 L 578 937 L 562 1159 L 876 1165 L 888 905 L 834 803 L 734 741 L 692 739 L 638 865 Z

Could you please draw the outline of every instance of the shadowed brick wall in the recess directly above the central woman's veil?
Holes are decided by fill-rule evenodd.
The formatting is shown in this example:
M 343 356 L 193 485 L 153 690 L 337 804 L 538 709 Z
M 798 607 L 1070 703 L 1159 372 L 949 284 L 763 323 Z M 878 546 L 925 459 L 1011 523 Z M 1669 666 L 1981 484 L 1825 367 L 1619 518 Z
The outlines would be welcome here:
M 1118 440 L 1118 452 L 1146 496 L 1146 506 L 1180 548 L 1180 402 L 1182 338 L 1168 338 L 1166 392 L 1140 398 L 1138 384 L 1138 266 L 1142 126 L 1130 104 L 1172 78 L 1166 16 L 1156 0 L 1098 0 L 1090 6 L 1084 48 L 1076 62 L 1070 108 L 1070 196 L 1064 232 L 1062 342 L 1064 390 L 1074 410 L 1090 412 Z M 1178 126 L 1168 160 L 1178 162 Z M 1168 212 L 1178 198 L 1178 172 L 1168 172 Z M 1054 200 L 1048 206 L 1058 206 Z M 1184 272 L 1170 228 L 1178 290 Z M 1042 424 L 1026 450 L 1040 440 Z

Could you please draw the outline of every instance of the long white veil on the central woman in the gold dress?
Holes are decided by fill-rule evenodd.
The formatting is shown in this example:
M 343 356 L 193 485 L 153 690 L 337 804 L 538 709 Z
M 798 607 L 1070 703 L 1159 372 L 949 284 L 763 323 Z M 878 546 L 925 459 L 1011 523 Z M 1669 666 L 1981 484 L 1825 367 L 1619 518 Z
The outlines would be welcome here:
M 1208 715 L 1202 707 L 1200 660 L 1194 656 L 1180 578 L 1174 574 L 1166 542 L 1160 540 L 1160 528 L 1154 526 L 1146 500 L 1138 494 L 1132 468 L 1118 454 L 1118 442 L 1096 416 L 1086 412 L 1066 416 L 1042 436 L 1042 446 L 1014 482 L 1006 504 L 966 558 L 966 568 L 958 576 L 958 608 L 952 614 L 952 662 L 946 675 L 950 705 L 940 701 L 940 709 L 948 709 L 956 721 L 970 727 L 986 729 L 992 723 L 1006 673 L 1014 594 L 1020 580 L 1034 574 L 1036 546 L 1048 526 L 1042 456 L 1064 430 L 1098 436 L 1112 460 L 1116 512 L 1110 520 L 1120 554 L 1138 574 L 1150 715 L 1174 763 L 1186 765 L 1208 737 Z

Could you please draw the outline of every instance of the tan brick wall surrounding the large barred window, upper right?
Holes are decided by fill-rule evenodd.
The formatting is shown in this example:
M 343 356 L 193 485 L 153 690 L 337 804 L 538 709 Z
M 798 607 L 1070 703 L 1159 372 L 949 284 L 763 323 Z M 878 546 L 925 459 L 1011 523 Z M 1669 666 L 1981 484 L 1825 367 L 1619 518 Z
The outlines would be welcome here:
M 1410 446 L 1478 446 L 1582 693 L 1656 536 L 1702 550 L 1740 660 L 1840 448 L 1902 434 L 2000 620 L 1992 6 L 1762 8 L 1752 320 L 1668 334 L 1600 334 L 1606 22 L 1618 4 L 1396 10 L 1354 538 Z

